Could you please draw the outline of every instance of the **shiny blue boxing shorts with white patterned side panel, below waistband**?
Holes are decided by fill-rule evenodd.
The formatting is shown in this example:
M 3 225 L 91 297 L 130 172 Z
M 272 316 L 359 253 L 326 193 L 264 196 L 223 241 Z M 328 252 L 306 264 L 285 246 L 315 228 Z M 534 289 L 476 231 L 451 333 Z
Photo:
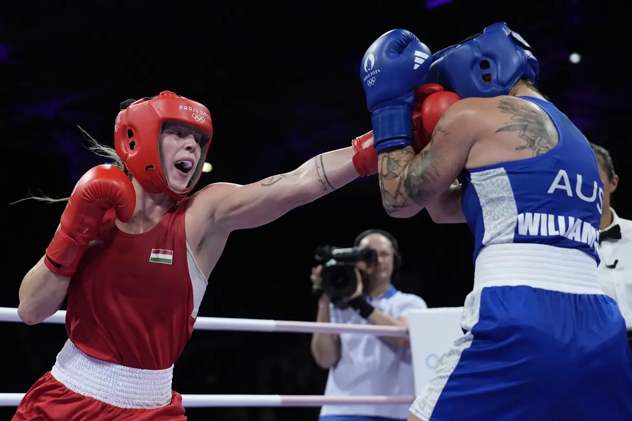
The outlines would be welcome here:
M 626 326 L 606 295 L 485 287 L 462 322 L 410 408 L 421 420 L 632 420 Z

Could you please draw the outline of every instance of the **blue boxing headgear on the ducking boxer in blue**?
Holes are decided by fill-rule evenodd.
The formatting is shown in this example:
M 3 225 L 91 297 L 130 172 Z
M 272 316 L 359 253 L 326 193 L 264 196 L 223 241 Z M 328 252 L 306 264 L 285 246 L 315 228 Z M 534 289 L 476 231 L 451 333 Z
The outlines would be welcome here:
M 535 85 L 540 73 L 529 44 L 504 22 L 432 56 L 427 82 L 461 98 L 507 95 L 522 78 Z

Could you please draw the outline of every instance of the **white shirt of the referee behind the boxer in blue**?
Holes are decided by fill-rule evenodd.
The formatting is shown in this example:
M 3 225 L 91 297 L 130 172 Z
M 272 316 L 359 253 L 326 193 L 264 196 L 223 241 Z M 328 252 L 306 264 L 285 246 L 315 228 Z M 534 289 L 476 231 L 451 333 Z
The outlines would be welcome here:
M 619 218 L 612 208 L 610 211 L 612 223 L 605 230 L 619 225 L 621 239 L 607 239 L 599 244 L 599 283 L 605 294 L 617 302 L 628 331 L 632 331 L 632 221 Z

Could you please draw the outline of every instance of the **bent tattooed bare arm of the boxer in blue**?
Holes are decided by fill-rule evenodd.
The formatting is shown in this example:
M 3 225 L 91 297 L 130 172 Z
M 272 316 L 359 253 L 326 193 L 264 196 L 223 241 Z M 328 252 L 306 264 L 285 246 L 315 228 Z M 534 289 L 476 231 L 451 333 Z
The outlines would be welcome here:
M 465 167 L 475 139 L 468 100 L 461 100 L 441 117 L 430 143 L 415 155 L 412 146 L 378 155 L 382 205 L 395 218 L 410 218 L 427 206 L 440 205 L 443 194 Z M 454 200 L 449 203 L 452 207 Z

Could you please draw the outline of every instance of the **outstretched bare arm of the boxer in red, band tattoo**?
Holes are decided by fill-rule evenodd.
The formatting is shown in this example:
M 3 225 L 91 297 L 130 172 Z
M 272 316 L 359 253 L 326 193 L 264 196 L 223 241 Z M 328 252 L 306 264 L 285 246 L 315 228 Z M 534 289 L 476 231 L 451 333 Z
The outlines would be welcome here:
M 228 233 L 258 227 L 355 180 L 353 154 L 353 147 L 322 153 L 286 174 L 246 186 L 214 184 L 199 195 L 212 203 L 209 211 L 215 229 Z

